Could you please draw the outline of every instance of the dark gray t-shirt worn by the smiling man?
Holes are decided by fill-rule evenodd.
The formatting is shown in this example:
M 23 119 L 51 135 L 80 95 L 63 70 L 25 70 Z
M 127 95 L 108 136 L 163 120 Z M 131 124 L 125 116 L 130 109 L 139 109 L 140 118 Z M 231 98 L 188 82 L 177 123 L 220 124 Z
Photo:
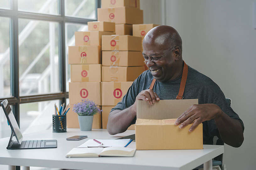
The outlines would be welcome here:
M 159 96 L 160 100 L 175 99 L 179 93 L 180 82 L 182 75 L 172 81 L 159 82 L 156 81 L 154 85 L 154 92 Z M 131 87 L 128 89 L 127 94 L 123 97 L 122 101 L 117 104 L 113 110 L 124 110 L 132 106 L 135 102 L 136 96 L 142 91 L 149 89 L 153 80 L 150 70 L 144 71 L 139 77 L 134 80 Z M 188 66 L 188 78 L 186 81 L 185 90 L 183 93 L 184 99 L 198 99 L 199 104 L 213 103 L 218 105 L 222 111 L 233 119 L 241 122 L 243 129 L 244 125 L 237 113 L 226 102 L 225 95 L 220 87 L 213 82 L 209 77 L 199 73 L 197 70 Z M 132 124 L 136 121 L 136 117 Z M 203 139 L 204 144 L 213 144 L 213 137 L 220 138 L 219 131 L 212 119 L 203 122 Z

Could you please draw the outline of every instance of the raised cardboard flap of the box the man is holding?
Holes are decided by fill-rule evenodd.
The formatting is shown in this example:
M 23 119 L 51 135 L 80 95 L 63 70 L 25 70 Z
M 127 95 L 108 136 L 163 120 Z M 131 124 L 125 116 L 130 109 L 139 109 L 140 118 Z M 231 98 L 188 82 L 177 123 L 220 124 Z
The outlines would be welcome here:
M 198 99 L 160 100 L 153 105 L 148 101 L 137 101 L 138 119 L 177 119 L 190 106 L 198 104 Z

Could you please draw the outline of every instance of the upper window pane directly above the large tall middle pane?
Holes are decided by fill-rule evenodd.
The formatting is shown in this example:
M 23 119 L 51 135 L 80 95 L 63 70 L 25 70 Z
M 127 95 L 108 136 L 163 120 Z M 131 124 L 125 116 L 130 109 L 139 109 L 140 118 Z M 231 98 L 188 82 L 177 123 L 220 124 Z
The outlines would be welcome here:
M 18 0 L 18 10 L 33 13 L 59 14 L 58 0 Z

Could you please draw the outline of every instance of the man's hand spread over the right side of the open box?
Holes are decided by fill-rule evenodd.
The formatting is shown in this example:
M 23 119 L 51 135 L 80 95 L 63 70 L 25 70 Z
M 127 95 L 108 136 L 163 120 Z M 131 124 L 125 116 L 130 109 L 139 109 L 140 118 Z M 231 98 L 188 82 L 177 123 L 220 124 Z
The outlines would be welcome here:
M 203 121 L 218 119 L 222 113 L 221 108 L 215 104 L 192 105 L 177 118 L 175 125 L 181 124 L 179 128 L 183 128 L 194 121 L 189 129 L 193 131 Z

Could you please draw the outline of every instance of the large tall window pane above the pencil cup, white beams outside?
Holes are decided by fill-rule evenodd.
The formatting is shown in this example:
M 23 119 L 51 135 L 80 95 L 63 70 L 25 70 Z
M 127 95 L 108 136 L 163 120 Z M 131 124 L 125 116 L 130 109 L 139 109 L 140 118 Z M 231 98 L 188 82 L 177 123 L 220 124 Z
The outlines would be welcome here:
M 19 94 L 59 92 L 58 23 L 19 19 Z

